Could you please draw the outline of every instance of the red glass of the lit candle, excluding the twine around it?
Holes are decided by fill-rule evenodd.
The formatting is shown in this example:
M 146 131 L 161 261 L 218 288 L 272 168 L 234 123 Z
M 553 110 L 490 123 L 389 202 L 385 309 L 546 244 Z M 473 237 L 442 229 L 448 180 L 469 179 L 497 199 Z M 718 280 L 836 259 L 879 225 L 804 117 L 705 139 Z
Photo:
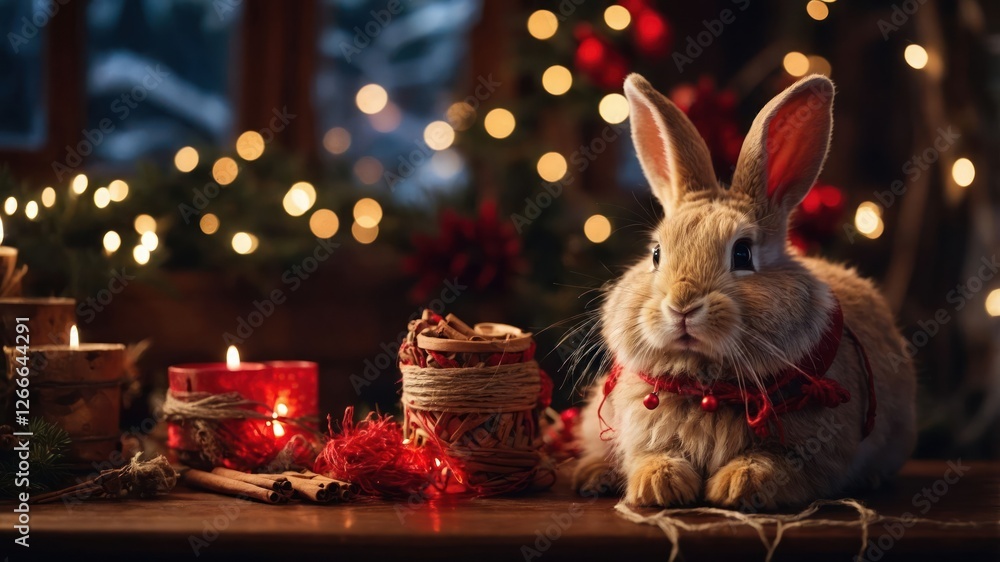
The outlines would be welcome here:
M 225 458 L 214 464 L 251 470 L 273 460 L 295 436 L 313 439 L 316 428 L 318 368 L 307 361 L 245 363 L 230 347 L 226 363 L 175 365 L 168 371 L 170 392 L 190 402 L 205 395 L 239 394 L 256 414 L 247 419 L 222 419 L 216 434 Z M 185 460 L 197 459 L 204 441 L 189 421 L 171 421 L 168 443 Z M 204 460 L 204 459 L 202 459 Z

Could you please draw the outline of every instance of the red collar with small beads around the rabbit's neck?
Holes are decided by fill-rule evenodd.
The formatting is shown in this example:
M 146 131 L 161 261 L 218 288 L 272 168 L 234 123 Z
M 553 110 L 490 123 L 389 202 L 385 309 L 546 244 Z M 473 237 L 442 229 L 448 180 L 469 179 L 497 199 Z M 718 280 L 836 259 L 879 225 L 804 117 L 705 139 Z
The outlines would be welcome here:
M 850 328 L 844 326 L 844 313 L 840 302 L 834 297 L 835 307 L 830 314 L 830 322 L 819 342 L 795 367 L 790 367 L 770 378 L 771 383 L 763 390 L 759 388 L 741 388 L 727 381 L 716 381 L 711 385 L 701 383 L 689 375 L 665 374 L 654 377 L 649 373 L 639 372 L 638 376 L 652 385 L 653 391 L 643 399 L 646 408 L 653 410 L 660 404 L 660 392 L 670 392 L 680 396 L 700 396 L 701 409 L 714 412 L 719 404 L 737 404 L 746 410 L 747 425 L 759 437 L 771 435 L 771 422 L 777 428 L 781 442 L 785 441 L 784 427 L 780 414 L 802 410 L 808 407 L 836 408 L 851 400 L 851 393 L 837 381 L 827 378 L 826 372 L 833 365 L 840 348 L 841 338 L 846 331 L 854 340 L 861 355 L 868 378 L 868 414 L 865 419 L 863 436 L 867 437 L 875 425 L 875 381 L 872 375 L 868 355 L 857 336 Z M 623 367 L 615 362 L 604 383 L 604 400 L 618 383 Z M 604 400 L 598 408 L 598 418 L 604 427 L 601 438 L 614 431 L 604 422 L 600 415 Z

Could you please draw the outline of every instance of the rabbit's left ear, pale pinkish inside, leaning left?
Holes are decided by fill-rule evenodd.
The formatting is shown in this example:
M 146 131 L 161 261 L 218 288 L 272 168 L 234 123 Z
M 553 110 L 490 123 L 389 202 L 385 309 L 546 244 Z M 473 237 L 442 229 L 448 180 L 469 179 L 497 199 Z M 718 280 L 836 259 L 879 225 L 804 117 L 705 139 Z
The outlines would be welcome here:
M 667 216 L 685 193 L 715 189 L 708 147 L 684 112 L 638 74 L 625 79 L 625 97 L 639 163 Z

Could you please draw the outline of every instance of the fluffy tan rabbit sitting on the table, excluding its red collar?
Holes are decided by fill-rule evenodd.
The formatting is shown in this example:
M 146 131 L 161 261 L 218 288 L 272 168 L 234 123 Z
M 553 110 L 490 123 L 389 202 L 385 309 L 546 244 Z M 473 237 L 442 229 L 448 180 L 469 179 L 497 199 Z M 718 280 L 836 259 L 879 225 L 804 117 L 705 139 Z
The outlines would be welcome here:
M 916 439 L 904 339 L 871 281 L 787 243 L 789 216 L 826 160 L 833 83 L 807 76 L 772 99 L 728 187 L 683 112 L 637 74 L 624 89 L 664 217 L 649 253 L 608 286 L 600 331 L 618 372 L 581 412 L 573 486 L 589 495 L 610 484 L 634 506 L 773 510 L 879 485 Z M 659 386 L 681 374 L 706 388 L 766 387 L 826 337 L 840 339 L 825 371 L 840 402 L 776 415 L 763 437 L 745 403 L 707 411 Z

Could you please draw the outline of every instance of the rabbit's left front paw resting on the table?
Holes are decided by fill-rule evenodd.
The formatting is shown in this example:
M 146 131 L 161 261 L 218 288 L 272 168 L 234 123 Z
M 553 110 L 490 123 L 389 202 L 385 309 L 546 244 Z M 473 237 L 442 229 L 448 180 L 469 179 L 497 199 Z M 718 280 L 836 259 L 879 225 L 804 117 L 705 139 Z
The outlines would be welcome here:
M 666 455 L 640 459 L 629 473 L 625 502 L 671 506 L 691 503 L 701 493 L 701 476 L 691 463 Z

